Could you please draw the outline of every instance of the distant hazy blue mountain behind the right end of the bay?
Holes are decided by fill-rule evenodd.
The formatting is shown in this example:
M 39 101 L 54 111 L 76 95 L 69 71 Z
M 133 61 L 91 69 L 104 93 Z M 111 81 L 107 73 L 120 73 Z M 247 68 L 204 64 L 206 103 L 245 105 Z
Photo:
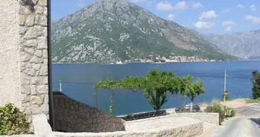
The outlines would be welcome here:
M 260 56 L 260 29 L 232 34 L 207 34 L 206 36 L 220 49 L 238 58 Z

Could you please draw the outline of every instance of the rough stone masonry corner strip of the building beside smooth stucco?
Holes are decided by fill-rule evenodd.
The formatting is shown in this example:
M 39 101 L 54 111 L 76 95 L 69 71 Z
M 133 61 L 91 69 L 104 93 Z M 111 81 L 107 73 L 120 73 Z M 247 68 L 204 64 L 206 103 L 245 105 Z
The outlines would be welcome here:
M 47 0 L 18 0 L 22 108 L 29 115 L 49 114 Z

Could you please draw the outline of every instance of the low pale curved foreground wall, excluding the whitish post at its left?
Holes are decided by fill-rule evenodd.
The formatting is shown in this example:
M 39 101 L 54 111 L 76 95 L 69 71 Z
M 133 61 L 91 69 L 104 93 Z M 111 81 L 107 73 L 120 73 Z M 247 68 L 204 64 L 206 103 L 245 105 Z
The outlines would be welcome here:
M 148 120 L 149 121 L 149 120 Z M 196 120 L 195 120 L 196 121 Z M 149 123 L 154 123 L 152 119 L 150 119 Z M 157 126 L 157 122 L 155 122 L 155 126 Z M 185 121 L 184 121 L 185 123 Z M 127 123 L 128 124 L 128 123 Z M 139 123 L 140 126 L 146 127 L 144 130 L 133 130 L 133 131 L 123 131 L 123 132 L 108 132 L 108 133 L 61 133 L 61 132 L 53 132 L 53 136 L 55 137 L 152 137 L 152 136 L 161 136 L 161 137 L 194 137 L 199 136 L 203 133 L 203 122 L 196 121 L 188 124 L 184 124 L 180 126 L 171 127 L 167 124 L 160 125 L 157 129 L 151 129 L 151 127 L 147 127 L 146 125 L 142 125 L 144 123 Z M 152 127 L 153 128 L 153 127 Z

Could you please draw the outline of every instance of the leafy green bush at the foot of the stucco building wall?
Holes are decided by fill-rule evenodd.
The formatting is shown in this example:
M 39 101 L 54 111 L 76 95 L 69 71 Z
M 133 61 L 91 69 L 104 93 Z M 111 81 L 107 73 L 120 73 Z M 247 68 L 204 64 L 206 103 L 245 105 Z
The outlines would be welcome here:
M 29 126 L 26 115 L 12 103 L 0 107 L 0 135 L 28 134 Z

